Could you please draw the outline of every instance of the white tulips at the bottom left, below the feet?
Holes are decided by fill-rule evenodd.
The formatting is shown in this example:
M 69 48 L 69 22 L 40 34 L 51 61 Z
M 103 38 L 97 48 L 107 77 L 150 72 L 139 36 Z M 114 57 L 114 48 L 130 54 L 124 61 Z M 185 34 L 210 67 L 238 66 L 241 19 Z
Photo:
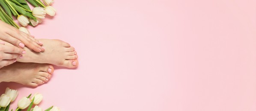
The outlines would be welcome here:
M 31 98 L 24 96 L 18 101 L 18 107 L 15 111 L 22 111 L 27 108 L 27 111 L 43 111 L 38 104 L 42 101 L 43 96 L 40 93 L 35 93 Z M 18 96 L 18 91 L 10 88 L 6 88 L 4 94 L 0 96 L 0 111 L 9 111 L 10 103 L 13 102 Z M 34 106 L 35 105 L 35 106 Z M 34 107 L 33 107 L 34 106 Z M 33 108 L 32 108 L 33 107 Z M 11 110 L 13 111 L 13 110 Z M 60 108 L 51 106 L 45 111 L 60 111 Z

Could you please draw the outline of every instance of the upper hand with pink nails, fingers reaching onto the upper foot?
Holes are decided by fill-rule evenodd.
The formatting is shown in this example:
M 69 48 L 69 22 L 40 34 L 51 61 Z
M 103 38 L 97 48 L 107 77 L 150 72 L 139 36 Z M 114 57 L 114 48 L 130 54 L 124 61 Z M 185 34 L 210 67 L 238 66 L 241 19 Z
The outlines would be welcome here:
M 0 39 L 13 44 L 16 47 L 23 48 L 27 46 L 36 52 L 42 52 L 42 43 L 34 39 L 31 35 L 21 32 L 13 26 L 0 20 Z

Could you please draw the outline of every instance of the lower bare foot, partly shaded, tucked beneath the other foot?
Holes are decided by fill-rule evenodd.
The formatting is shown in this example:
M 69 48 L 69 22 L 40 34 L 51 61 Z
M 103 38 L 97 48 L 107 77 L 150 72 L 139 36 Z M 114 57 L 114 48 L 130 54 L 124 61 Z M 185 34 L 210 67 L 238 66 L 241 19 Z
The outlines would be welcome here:
M 15 62 L 0 69 L 0 82 L 17 82 L 36 87 L 47 82 L 54 72 L 50 64 Z

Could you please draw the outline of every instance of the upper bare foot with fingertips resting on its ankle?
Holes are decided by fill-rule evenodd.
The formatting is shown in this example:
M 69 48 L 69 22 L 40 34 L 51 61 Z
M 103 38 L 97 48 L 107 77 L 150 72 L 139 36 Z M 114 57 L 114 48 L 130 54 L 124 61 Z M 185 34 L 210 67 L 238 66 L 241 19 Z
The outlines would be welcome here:
M 74 68 L 78 66 L 77 53 L 74 51 L 74 47 L 71 47 L 68 43 L 60 40 L 52 39 L 38 39 L 43 42 L 44 52 L 34 52 L 27 47 L 24 47 L 26 54 L 23 54 L 23 58 L 18 58 L 19 62 L 34 62 L 42 64 L 54 64 L 57 66 Z M 6 44 L 12 45 L 12 44 Z

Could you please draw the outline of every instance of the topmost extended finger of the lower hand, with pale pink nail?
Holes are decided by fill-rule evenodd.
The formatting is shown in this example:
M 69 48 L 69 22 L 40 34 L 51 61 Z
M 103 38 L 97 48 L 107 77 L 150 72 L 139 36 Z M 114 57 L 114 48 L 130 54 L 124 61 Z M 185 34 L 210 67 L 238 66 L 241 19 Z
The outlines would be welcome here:
M 0 51 L 3 51 L 4 53 L 18 53 L 18 54 L 25 54 L 26 51 L 24 49 L 21 49 L 19 47 L 15 46 L 6 46 L 3 44 L 0 44 Z

